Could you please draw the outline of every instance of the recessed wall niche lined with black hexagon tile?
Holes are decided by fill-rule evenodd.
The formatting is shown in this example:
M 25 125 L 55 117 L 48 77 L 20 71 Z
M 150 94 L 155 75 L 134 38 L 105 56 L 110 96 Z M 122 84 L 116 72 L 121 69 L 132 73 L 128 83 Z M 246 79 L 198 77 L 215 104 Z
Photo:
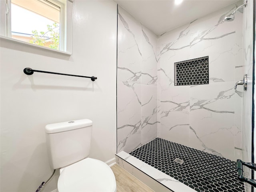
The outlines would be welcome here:
M 174 63 L 174 85 L 209 84 L 209 57 Z

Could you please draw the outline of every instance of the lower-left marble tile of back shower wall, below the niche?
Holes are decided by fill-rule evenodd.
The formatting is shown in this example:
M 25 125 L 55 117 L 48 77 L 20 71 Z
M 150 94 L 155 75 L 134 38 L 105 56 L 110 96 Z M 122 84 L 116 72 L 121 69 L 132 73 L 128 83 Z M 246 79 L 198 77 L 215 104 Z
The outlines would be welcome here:
M 171 86 L 161 92 L 160 137 L 189 144 L 190 86 Z

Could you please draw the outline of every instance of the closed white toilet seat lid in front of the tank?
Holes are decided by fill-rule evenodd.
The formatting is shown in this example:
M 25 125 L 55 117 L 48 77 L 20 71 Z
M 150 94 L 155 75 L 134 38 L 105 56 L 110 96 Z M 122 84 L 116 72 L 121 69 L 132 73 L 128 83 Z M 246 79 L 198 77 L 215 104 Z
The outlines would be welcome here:
M 60 170 L 58 192 L 116 192 L 116 179 L 106 163 L 85 158 Z

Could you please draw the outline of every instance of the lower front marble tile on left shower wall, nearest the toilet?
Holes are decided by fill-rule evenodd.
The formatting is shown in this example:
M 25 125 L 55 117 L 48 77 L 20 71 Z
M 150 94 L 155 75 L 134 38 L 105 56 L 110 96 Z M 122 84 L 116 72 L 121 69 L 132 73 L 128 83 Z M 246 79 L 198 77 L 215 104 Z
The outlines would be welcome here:
M 118 82 L 118 95 L 117 150 L 132 151 L 141 145 L 140 84 Z

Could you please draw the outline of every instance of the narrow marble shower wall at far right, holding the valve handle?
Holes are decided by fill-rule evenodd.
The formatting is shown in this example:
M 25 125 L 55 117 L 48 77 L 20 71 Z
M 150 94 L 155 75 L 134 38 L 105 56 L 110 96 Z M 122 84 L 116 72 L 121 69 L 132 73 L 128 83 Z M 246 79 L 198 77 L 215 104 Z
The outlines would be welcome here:
M 253 75 L 253 1 L 248 0 L 243 13 L 243 57 L 242 70 L 248 75 L 247 91 L 243 92 L 242 105 L 242 160 L 252 162 L 252 75 Z M 255 111 L 254 111 L 255 112 Z M 254 154 L 255 156 L 256 154 Z M 251 178 L 251 170 L 244 168 L 244 176 Z M 254 174 L 255 179 L 255 174 Z M 251 186 L 246 184 L 246 191 Z

